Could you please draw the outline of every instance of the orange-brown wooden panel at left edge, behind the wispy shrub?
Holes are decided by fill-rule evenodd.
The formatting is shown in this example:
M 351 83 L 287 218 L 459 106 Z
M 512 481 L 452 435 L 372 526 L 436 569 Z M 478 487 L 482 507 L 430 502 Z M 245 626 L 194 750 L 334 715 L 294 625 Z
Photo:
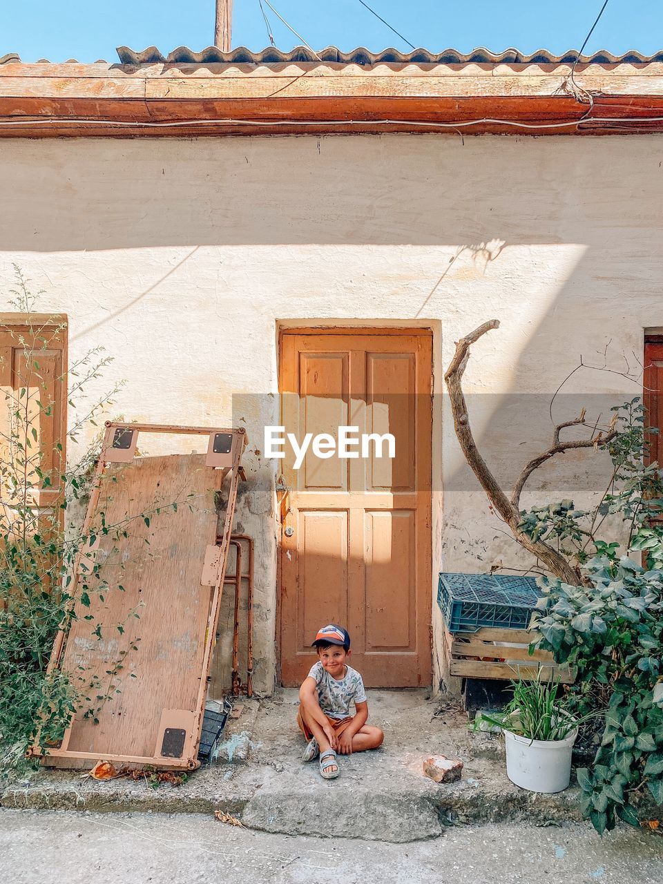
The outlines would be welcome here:
M 65 488 L 67 319 L 0 313 L 0 521 L 27 499 L 56 516 Z M 25 451 L 22 451 L 25 448 Z M 12 476 L 24 480 L 15 487 Z M 13 486 L 13 487 L 12 487 Z M 27 489 L 27 491 L 26 491 Z

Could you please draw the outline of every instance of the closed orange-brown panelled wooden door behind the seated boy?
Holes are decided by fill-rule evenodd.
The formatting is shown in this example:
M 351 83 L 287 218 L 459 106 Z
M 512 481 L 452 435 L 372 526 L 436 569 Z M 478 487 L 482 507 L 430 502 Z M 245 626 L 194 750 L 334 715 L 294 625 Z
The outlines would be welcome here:
M 431 683 L 431 333 L 286 331 L 282 423 L 336 437 L 391 433 L 395 457 L 321 459 L 285 446 L 280 567 L 281 678 L 305 678 L 310 644 L 345 626 L 370 687 Z M 361 454 L 361 452 L 359 452 Z M 386 449 L 385 449 L 386 453 Z

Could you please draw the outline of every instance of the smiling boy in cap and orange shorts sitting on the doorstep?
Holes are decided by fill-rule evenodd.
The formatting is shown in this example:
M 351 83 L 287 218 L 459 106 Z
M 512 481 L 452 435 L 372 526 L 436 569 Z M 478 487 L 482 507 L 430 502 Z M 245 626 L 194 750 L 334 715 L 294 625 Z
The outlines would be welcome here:
M 313 647 L 317 662 L 300 688 L 300 711 L 297 723 L 309 740 L 302 760 L 320 755 L 320 775 L 333 780 L 339 775 L 336 753 L 352 755 L 377 749 L 385 735 L 380 728 L 367 725 L 369 705 L 362 676 L 347 666 L 350 636 L 347 629 L 330 623 L 316 635 Z M 354 702 L 354 715 L 350 705 Z

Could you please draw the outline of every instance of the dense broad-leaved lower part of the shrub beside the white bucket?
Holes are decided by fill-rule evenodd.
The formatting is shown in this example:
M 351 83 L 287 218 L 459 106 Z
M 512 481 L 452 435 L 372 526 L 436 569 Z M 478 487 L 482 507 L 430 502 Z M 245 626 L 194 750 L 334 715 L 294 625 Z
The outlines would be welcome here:
M 615 815 L 637 825 L 644 788 L 663 804 L 663 571 L 606 556 L 587 568 L 591 588 L 548 581 L 535 620 L 539 647 L 577 667 L 581 690 L 608 689 L 594 765 L 578 771 L 583 814 L 603 832 Z

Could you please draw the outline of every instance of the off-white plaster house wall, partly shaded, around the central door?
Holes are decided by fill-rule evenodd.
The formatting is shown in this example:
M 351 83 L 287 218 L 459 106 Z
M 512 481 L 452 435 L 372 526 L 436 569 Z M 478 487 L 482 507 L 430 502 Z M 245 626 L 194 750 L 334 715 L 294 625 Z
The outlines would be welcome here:
M 644 328 L 663 325 L 662 162 L 655 135 L 3 140 L 0 309 L 11 309 L 18 263 L 44 290 L 40 309 L 69 315 L 72 359 L 97 345 L 115 357 L 97 383 L 126 380 L 112 416 L 225 423 L 232 393 L 246 394 L 235 416 L 252 452 L 257 411 L 276 408 L 250 394 L 278 390 L 278 321 L 431 324 L 440 392 L 453 341 L 497 317 L 467 389 L 477 436 L 508 480 L 546 445 L 552 391 L 580 355 L 603 364 L 611 341 L 607 362 L 622 370 L 624 354 L 642 359 Z M 590 394 L 638 391 L 598 370 L 564 389 L 577 398 L 556 401 L 560 418 Z M 434 574 L 523 567 L 448 415 L 436 469 L 440 459 Z M 238 522 L 256 538 L 264 692 L 275 660 L 272 470 L 258 453 L 248 466 Z M 523 503 L 569 496 L 569 485 L 586 499 L 603 471 L 599 457 L 568 455 Z M 437 613 L 433 622 L 437 660 Z

